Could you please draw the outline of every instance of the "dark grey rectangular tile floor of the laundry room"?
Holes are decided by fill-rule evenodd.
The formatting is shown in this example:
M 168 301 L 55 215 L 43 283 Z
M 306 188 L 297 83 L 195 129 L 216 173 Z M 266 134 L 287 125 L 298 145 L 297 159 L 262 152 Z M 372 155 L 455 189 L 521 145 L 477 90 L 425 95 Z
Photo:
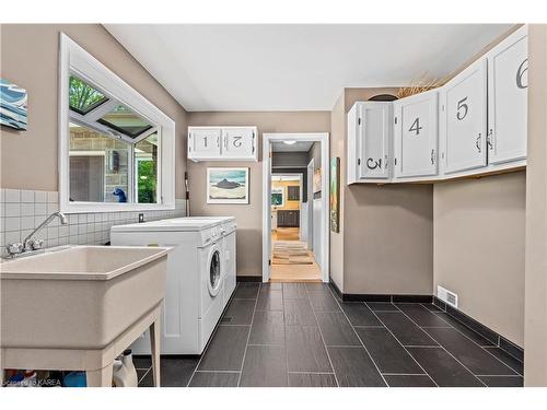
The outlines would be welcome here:
M 150 358 L 136 358 L 139 386 Z M 341 302 L 322 283 L 238 283 L 201 358 L 162 356 L 162 386 L 523 385 L 523 364 L 433 305 Z

